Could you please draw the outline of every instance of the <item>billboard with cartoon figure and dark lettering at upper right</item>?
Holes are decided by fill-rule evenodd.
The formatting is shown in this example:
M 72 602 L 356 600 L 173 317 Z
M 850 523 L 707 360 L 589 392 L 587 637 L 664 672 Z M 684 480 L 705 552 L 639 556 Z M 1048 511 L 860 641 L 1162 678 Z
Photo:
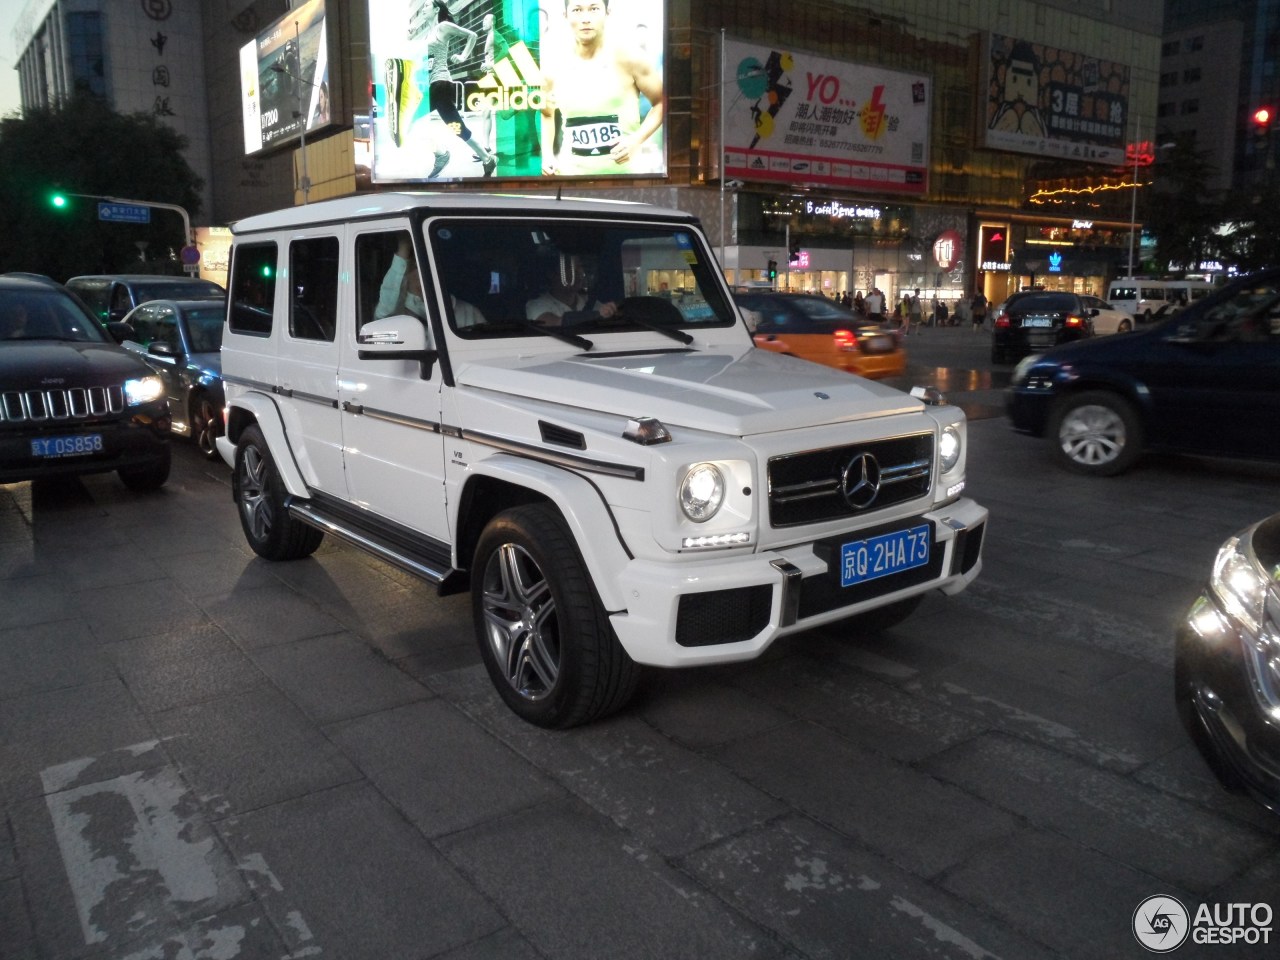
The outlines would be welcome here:
M 986 63 L 986 146 L 1124 164 L 1128 67 L 1000 33 Z

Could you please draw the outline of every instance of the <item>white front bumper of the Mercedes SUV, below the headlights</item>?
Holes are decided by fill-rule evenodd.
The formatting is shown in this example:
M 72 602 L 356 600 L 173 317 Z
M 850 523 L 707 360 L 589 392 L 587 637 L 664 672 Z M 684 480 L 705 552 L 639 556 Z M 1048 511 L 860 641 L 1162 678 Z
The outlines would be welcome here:
M 987 509 L 968 498 L 893 524 L 932 522 L 924 567 L 841 588 L 831 545 L 804 543 L 746 556 L 709 554 L 698 563 L 632 559 L 618 582 L 626 611 L 611 614 L 631 659 L 658 667 L 731 663 L 759 657 L 780 636 L 865 613 L 932 590 L 955 594 L 982 570 Z M 867 530 L 844 539 L 865 538 Z

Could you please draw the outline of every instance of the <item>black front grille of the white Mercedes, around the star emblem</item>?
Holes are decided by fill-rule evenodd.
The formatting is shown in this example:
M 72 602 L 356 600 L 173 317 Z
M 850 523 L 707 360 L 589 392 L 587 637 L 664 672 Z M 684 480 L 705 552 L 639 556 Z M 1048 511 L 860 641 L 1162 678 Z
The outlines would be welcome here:
M 850 504 L 841 477 L 850 461 L 870 454 L 879 470 L 876 495 L 861 507 Z M 851 516 L 874 516 L 896 503 L 929 493 L 933 434 L 851 443 L 769 460 L 769 524 L 795 526 Z M 864 498 L 852 498 L 855 500 Z

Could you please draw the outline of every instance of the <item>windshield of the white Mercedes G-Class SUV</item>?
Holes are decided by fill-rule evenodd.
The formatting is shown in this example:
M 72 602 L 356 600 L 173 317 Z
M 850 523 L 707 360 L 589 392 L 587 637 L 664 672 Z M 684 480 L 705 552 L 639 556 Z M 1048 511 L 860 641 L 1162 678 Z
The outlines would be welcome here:
M 442 219 L 428 227 L 449 323 L 470 339 L 730 326 L 736 312 L 698 234 L 680 224 Z

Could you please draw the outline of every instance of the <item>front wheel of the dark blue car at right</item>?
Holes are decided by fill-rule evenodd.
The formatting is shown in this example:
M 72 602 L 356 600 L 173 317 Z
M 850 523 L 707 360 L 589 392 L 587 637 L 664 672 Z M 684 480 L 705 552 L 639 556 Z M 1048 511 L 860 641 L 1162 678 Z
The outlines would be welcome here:
M 1124 397 L 1085 390 L 1055 407 L 1048 442 L 1060 466 L 1076 474 L 1115 476 L 1142 453 L 1142 421 Z

